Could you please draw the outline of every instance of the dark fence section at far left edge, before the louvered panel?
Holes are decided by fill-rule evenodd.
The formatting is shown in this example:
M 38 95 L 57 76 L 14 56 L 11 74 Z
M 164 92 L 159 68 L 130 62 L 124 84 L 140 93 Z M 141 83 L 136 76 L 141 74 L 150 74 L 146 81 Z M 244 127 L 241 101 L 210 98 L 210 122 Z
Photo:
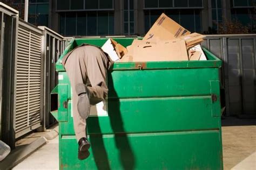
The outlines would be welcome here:
M 0 3 L 0 139 L 15 147 L 15 68 L 18 11 Z

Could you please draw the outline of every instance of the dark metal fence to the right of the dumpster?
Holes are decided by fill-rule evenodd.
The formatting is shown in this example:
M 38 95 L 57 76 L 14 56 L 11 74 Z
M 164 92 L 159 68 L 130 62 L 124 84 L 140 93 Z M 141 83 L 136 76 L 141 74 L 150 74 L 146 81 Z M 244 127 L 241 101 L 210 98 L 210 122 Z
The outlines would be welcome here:
M 203 46 L 223 60 L 227 116 L 256 116 L 256 34 L 206 36 Z

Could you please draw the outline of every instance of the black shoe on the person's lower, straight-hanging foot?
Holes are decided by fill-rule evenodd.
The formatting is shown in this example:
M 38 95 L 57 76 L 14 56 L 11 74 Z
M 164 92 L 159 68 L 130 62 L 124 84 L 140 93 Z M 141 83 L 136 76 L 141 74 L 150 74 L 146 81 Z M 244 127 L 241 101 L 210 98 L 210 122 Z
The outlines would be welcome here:
M 88 151 L 90 148 L 90 143 L 87 138 L 81 138 L 78 141 L 78 159 L 83 160 L 89 157 L 90 152 Z

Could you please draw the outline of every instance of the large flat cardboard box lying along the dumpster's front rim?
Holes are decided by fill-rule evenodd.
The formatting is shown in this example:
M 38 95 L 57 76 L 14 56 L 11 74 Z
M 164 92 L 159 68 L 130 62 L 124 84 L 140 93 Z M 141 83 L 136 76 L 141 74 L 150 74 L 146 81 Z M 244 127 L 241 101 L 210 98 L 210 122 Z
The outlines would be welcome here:
M 158 44 L 140 42 L 137 46 L 132 46 L 130 51 L 124 56 L 122 62 L 146 62 L 146 61 L 186 61 L 188 60 L 186 45 L 184 40 L 163 41 Z M 130 55 L 129 55 L 130 54 Z

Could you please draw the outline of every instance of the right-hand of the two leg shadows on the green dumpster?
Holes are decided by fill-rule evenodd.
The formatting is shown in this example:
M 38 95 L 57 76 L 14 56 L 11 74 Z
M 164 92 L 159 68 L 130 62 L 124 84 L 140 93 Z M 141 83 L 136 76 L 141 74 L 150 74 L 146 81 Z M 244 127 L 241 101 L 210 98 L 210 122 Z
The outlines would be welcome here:
M 124 129 L 124 123 L 120 112 L 120 101 L 119 97 L 113 87 L 112 75 L 109 74 L 107 77 L 108 87 L 111 91 L 113 98 L 109 99 L 109 103 L 112 107 L 108 107 L 109 118 L 112 130 L 114 132 L 114 140 L 116 142 L 116 147 L 119 150 L 119 159 L 122 162 L 123 169 L 134 169 L 135 158 L 134 154 Z M 114 107 L 113 107 L 114 106 Z

